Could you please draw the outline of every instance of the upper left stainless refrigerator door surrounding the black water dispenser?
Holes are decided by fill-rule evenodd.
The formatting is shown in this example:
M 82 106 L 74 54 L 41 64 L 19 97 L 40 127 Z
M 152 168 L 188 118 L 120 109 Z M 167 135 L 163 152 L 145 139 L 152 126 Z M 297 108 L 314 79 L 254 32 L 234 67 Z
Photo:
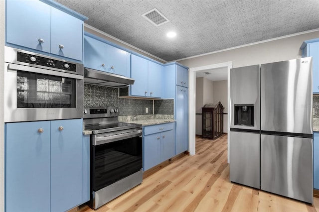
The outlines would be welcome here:
M 259 87 L 259 65 L 230 70 L 230 128 L 260 130 Z M 236 124 L 235 105 L 254 106 L 253 124 Z

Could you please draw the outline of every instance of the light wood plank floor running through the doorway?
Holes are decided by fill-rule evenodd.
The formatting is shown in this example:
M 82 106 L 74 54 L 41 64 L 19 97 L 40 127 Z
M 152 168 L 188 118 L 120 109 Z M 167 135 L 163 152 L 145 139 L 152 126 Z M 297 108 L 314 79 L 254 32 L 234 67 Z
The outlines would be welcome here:
M 82 211 L 93 212 L 89 208 Z M 319 212 L 314 205 L 229 182 L 227 135 L 196 137 L 196 155 L 180 155 L 144 174 L 143 183 L 97 212 Z

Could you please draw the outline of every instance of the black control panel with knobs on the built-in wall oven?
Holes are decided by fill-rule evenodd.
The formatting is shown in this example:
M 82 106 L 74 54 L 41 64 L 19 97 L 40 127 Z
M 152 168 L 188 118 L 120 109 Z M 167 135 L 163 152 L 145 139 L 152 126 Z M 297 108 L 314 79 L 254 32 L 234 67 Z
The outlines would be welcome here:
M 62 69 L 67 71 L 76 72 L 76 64 L 54 60 L 51 58 L 45 58 L 38 55 L 32 55 L 24 52 L 17 52 L 17 61 L 29 64 L 35 64 L 39 66 L 51 67 L 56 69 Z

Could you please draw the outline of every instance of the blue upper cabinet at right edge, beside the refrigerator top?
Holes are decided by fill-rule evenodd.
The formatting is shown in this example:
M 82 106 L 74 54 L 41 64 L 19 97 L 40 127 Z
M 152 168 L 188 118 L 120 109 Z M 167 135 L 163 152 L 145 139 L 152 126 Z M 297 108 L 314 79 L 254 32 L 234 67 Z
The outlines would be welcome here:
M 306 40 L 300 47 L 303 57 L 313 57 L 313 93 L 319 93 L 319 38 Z

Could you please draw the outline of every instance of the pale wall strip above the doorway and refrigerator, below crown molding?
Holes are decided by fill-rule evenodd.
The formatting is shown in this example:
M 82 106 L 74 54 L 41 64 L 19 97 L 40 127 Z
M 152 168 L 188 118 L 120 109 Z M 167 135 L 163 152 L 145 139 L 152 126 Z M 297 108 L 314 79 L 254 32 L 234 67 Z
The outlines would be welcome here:
M 319 30 L 277 40 L 178 60 L 192 68 L 233 61 L 233 68 L 301 58 L 300 46 L 305 40 L 319 37 Z

